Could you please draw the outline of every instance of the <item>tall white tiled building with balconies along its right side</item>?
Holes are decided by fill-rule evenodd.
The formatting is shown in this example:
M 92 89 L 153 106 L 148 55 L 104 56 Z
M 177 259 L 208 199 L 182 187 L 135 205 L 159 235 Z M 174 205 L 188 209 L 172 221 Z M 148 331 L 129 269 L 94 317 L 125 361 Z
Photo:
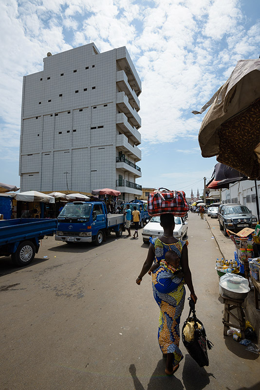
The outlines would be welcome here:
M 43 62 L 23 78 L 21 190 L 142 195 L 141 81 L 126 47 L 99 53 L 90 43 Z

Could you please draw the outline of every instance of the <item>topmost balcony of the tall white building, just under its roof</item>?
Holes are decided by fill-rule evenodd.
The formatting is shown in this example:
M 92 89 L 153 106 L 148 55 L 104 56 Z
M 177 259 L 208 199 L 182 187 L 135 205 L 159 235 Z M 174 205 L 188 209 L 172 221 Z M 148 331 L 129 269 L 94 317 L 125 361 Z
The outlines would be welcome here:
M 142 92 L 141 80 L 136 72 L 126 46 L 116 49 L 116 61 L 119 67 L 126 73 L 131 88 L 135 91 L 136 95 L 139 96 Z

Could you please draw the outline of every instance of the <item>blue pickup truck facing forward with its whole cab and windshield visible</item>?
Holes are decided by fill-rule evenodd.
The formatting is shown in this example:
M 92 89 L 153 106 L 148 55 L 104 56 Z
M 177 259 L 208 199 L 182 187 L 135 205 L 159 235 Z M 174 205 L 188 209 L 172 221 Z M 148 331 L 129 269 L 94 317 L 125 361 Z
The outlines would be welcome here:
M 57 241 L 94 242 L 101 245 L 106 236 L 114 232 L 121 237 L 125 231 L 123 214 L 108 214 L 104 202 L 67 203 L 57 217 Z

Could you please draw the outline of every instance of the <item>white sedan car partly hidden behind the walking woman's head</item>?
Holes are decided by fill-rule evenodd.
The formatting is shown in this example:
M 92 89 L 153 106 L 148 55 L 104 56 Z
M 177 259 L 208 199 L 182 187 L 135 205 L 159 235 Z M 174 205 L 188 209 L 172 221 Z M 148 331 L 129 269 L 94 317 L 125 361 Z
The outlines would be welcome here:
M 180 216 L 175 216 L 174 220 L 175 228 L 173 231 L 173 235 L 177 239 L 182 240 L 187 235 L 188 223 L 185 221 L 184 218 Z M 144 243 L 148 243 L 149 237 L 159 237 L 162 234 L 164 234 L 164 230 L 160 225 L 160 216 L 153 216 L 143 229 L 143 241 Z

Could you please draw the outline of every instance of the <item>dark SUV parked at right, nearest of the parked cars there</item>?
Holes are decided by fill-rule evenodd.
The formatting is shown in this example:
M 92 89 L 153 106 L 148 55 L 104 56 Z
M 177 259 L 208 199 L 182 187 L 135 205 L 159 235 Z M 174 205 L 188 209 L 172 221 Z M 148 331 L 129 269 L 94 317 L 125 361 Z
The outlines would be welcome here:
M 228 235 L 226 229 L 238 233 L 242 228 L 255 228 L 257 224 L 257 217 L 246 206 L 239 203 L 221 205 L 218 218 L 220 230 L 224 230 L 225 236 Z

